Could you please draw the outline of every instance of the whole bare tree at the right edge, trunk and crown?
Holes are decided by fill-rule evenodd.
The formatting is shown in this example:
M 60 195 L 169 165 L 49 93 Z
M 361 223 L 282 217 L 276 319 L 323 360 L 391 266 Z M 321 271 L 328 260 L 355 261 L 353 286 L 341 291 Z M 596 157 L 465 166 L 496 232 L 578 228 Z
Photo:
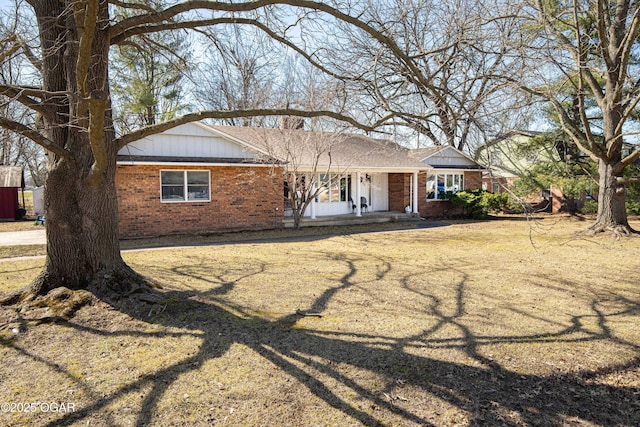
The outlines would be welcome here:
M 598 216 L 590 230 L 628 234 L 625 185 L 637 179 L 624 170 L 640 158 L 640 146 L 623 147 L 632 147 L 640 112 L 640 4 L 535 0 L 531 7 L 522 30 L 533 41 L 526 90 L 551 103 L 571 141 L 598 164 Z

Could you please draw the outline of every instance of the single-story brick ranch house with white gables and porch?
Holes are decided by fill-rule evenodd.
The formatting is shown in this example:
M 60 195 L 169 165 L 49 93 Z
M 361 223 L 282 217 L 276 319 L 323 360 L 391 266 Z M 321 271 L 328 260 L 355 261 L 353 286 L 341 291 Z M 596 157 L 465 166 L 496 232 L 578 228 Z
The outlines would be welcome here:
M 287 173 L 316 173 L 325 183 L 307 217 L 366 215 L 360 203 L 353 203 L 362 197 L 368 212 L 408 207 L 415 214 L 438 216 L 448 202 L 428 200 L 429 177 L 454 190 L 481 185 L 479 166 L 451 150 L 427 153 L 355 134 L 184 124 L 118 153 L 120 233 L 280 228 L 288 214 Z

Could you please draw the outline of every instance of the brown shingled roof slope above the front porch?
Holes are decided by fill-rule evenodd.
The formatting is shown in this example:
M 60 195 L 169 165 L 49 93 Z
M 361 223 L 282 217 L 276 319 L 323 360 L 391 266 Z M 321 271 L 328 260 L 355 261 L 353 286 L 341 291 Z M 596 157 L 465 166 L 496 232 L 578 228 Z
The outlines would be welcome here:
M 424 170 L 426 165 L 409 150 L 388 140 L 364 135 L 298 129 L 212 126 L 221 134 L 260 148 L 268 155 L 297 166 L 342 169 Z M 318 153 L 321 153 L 318 155 Z

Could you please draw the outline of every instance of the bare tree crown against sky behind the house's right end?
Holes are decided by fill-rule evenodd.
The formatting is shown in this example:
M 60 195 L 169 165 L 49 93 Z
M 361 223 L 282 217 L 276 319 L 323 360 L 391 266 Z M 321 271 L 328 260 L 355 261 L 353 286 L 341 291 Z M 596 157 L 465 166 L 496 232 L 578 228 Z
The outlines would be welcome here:
M 498 3 L 351 2 L 340 7 L 349 17 L 310 14 L 298 27 L 361 117 L 409 129 L 418 144 L 465 150 L 500 133 L 499 117 L 526 102 L 504 78 L 522 69 L 511 54 L 519 42 L 516 6 Z

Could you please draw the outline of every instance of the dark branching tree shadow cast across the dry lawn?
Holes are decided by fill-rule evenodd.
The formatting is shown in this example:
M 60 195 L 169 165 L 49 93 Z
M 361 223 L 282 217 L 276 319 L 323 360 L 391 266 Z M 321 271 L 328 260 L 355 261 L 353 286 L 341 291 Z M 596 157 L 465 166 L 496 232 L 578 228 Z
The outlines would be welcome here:
M 336 281 L 335 287 L 327 288 L 306 311 L 322 313 L 337 294 L 362 285 L 355 280 L 357 260 L 340 256 L 334 258 L 336 262 L 344 263 L 346 272 Z M 260 274 L 264 269 L 264 266 L 257 268 L 255 274 Z M 202 273 L 189 266 L 181 266 L 178 271 L 194 277 Z M 383 262 L 376 278 L 372 280 L 381 280 L 390 271 L 391 265 Z M 444 309 L 445 301 L 439 297 L 428 290 L 412 287 L 411 277 L 402 280 L 405 288 L 430 301 L 425 306 L 425 312 L 436 320 L 435 324 L 419 334 L 398 338 L 373 332 L 359 334 L 300 329 L 296 323 L 302 319 L 304 314 L 301 313 L 304 312 L 293 312 L 274 321 L 252 315 L 242 307 L 230 307 L 227 302 L 219 300 L 231 292 L 239 280 L 251 274 L 247 272 L 236 280 L 230 280 L 224 272 L 213 274 L 215 279 L 211 279 L 211 276 L 196 277 L 214 285 L 204 292 L 195 289 L 157 291 L 165 301 L 173 303 L 154 316 L 153 322 L 172 328 L 186 328 L 185 334 L 192 334 L 201 340 L 197 353 L 128 382 L 113 393 L 97 397 L 91 404 L 74 413 L 61 415 L 47 426 L 64 426 L 84 420 L 132 392 L 146 393 L 136 425 L 152 425 L 159 401 L 179 377 L 198 371 L 211 359 L 224 356 L 234 344 L 254 350 L 265 361 L 288 374 L 299 387 L 306 388 L 330 407 L 350 417 L 352 422 L 368 426 L 391 423 L 436 425 L 428 414 L 428 407 L 420 407 L 420 404 L 399 397 L 398 389 L 402 387 L 417 389 L 467 413 L 469 426 L 562 425 L 567 419 L 584 420 L 596 425 L 640 425 L 640 389 L 598 382 L 604 375 L 639 369 L 640 356 L 600 371 L 544 376 L 510 370 L 481 351 L 484 345 L 498 343 L 535 345 L 552 339 L 569 344 L 576 340 L 597 339 L 622 344 L 638 354 L 640 345 L 616 338 L 608 326 L 610 317 L 624 313 L 624 310 L 607 315 L 598 309 L 594 301 L 590 313 L 574 316 L 571 326 L 560 328 L 557 332 L 482 336 L 475 334 L 461 321 L 466 314 L 465 303 L 468 299 L 467 278 L 461 272 L 461 278 L 454 286 L 455 301 L 449 304 L 453 308 L 448 310 Z M 628 306 L 628 310 L 638 309 L 638 301 L 628 298 L 621 301 Z M 134 318 L 149 320 L 148 307 L 141 309 L 138 304 L 125 301 L 117 308 Z M 185 327 L 185 316 L 193 319 L 205 316 L 207 321 L 195 320 Z M 599 330 L 596 334 L 589 332 L 586 338 L 578 338 L 575 334 L 582 330 L 581 319 L 587 316 L 597 319 Z M 105 331 L 81 326 L 73 321 L 65 325 L 98 335 L 105 334 Z M 437 338 L 436 333 L 445 327 L 455 328 L 459 337 Z M 130 334 L 129 331 L 120 333 Z M 435 345 L 440 349 L 462 350 L 476 363 L 470 365 L 443 361 L 411 352 L 412 348 Z M 363 385 L 357 378 L 346 374 L 340 366 L 375 373 L 384 379 L 384 387 L 373 389 Z M 353 399 L 343 397 L 344 390 L 349 390 L 358 397 L 358 401 L 367 404 L 355 404 Z

